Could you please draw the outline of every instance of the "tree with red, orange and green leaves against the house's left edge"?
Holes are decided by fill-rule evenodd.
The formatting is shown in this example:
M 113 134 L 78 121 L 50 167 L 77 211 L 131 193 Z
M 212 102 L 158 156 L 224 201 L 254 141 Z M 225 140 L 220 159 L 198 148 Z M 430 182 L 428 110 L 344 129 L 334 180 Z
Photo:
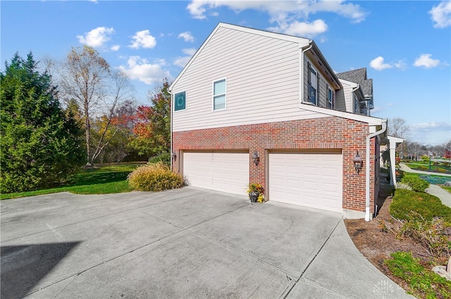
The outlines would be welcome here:
M 135 139 L 130 146 L 139 155 L 160 155 L 171 148 L 171 94 L 165 79 L 161 87 L 149 94 L 151 106 L 140 106 L 135 115 L 133 133 Z

